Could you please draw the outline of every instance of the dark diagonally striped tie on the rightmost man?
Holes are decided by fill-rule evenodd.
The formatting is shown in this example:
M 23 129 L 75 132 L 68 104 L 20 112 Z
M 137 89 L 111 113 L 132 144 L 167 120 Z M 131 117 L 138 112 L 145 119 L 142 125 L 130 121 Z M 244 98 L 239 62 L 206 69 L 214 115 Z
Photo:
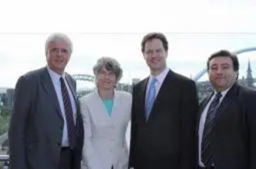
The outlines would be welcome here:
M 214 99 L 212 100 L 212 103 L 210 104 L 207 110 L 207 115 L 205 119 L 204 131 L 203 131 L 203 137 L 202 137 L 201 157 L 202 157 L 202 162 L 206 167 L 211 165 L 212 150 L 211 150 L 211 139 L 209 137 L 216 119 L 216 112 L 220 104 L 220 98 L 221 98 L 221 92 L 218 92 L 214 97 Z

